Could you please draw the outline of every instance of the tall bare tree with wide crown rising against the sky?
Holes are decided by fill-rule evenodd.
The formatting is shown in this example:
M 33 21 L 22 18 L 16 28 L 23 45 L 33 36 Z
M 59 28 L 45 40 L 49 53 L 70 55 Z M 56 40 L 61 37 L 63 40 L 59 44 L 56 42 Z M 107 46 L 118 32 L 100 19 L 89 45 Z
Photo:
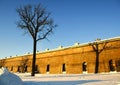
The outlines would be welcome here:
M 35 76 L 35 63 L 36 63 L 36 47 L 37 42 L 45 39 L 53 29 L 56 27 L 53 20 L 50 19 L 50 13 L 38 5 L 26 5 L 17 8 L 17 13 L 20 17 L 17 26 L 28 32 L 33 38 L 33 60 L 32 60 L 32 73 Z

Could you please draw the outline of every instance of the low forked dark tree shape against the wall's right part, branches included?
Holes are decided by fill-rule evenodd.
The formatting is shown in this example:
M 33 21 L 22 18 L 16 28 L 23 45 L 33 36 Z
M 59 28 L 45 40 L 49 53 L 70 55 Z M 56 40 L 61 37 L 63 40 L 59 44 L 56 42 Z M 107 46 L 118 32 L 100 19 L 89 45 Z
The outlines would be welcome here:
M 89 44 L 92 46 L 96 54 L 95 73 L 98 73 L 99 70 L 99 55 L 106 48 L 106 44 L 107 44 L 107 42 L 100 43 L 100 40 L 101 39 L 96 39 L 95 42 Z M 100 47 L 100 45 L 102 46 Z

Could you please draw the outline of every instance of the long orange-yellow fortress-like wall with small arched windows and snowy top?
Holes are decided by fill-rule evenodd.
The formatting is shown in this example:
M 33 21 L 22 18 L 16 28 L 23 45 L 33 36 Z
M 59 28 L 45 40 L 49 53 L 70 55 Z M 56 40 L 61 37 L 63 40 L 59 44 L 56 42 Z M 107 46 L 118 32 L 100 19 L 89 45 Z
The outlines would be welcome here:
M 46 49 L 36 57 L 36 73 L 41 74 L 95 73 L 96 69 L 99 73 L 120 72 L 120 37 Z M 27 54 L 1 59 L 0 66 L 12 72 L 31 72 L 31 62 L 32 54 Z

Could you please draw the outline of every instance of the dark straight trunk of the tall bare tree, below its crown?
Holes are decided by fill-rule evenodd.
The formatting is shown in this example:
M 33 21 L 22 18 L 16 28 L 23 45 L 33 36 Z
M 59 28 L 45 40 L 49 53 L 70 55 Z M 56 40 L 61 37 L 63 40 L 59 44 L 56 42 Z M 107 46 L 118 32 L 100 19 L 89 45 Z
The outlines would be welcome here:
M 35 76 L 35 64 L 36 64 L 36 38 L 33 41 L 33 59 L 32 59 L 32 73 L 31 76 Z

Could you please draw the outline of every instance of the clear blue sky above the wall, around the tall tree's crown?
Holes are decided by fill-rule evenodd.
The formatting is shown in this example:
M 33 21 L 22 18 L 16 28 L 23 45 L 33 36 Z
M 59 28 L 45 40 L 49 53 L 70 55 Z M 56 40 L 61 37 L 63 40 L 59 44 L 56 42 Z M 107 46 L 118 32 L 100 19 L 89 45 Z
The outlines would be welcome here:
M 120 0 L 0 0 L 0 58 L 32 53 L 31 36 L 15 24 L 16 8 L 39 2 L 58 27 L 49 41 L 38 42 L 38 51 L 120 36 Z

